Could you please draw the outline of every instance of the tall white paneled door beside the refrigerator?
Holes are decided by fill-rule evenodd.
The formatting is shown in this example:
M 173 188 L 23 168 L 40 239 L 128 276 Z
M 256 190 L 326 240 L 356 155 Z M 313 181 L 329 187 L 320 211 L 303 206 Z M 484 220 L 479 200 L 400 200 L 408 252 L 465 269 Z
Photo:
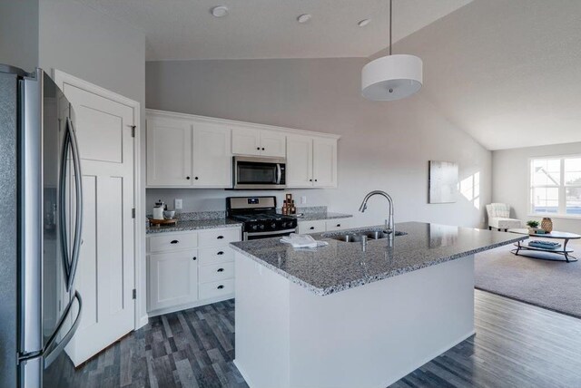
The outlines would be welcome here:
M 74 108 L 84 185 L 76 289 L 81 323 L 67 354 L 74 365 L 134 327 L 133 108 L 64 83 Z

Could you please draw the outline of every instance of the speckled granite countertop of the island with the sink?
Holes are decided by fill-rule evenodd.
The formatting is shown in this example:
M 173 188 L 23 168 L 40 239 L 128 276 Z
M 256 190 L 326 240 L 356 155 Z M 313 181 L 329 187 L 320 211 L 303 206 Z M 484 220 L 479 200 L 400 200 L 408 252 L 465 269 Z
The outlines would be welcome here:
M 235 242 L 231 247 L 291 282 L 325 296 L 527 238 L 422 222 L 396 224 L 396 230 L 407 235 L 396 236 L 391 242 L 388 238 L 368 240 L 365 251 L 359 242 L 329 238 L 369 229 L 383 227 L 313 234 L 313 238 L 329 242 L 329 246 L 315 249 L 295 249 L 282 244 L 280 238 Z

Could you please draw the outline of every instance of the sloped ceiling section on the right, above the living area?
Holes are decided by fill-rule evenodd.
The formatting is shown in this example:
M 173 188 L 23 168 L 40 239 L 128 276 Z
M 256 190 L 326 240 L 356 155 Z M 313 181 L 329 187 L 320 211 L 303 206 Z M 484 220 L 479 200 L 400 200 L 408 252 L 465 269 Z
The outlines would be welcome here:
M 581 141 L 581 1 L 476 0 L 399 44 L 422 97 L 488 150 Z

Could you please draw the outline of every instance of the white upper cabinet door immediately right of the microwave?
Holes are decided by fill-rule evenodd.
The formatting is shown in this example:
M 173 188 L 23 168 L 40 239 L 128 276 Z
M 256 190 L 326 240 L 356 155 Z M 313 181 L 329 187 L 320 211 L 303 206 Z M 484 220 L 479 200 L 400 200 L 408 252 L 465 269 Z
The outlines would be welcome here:
M 287 136 L 286 177 L 289 188 L 312 187 L 312 138 Z

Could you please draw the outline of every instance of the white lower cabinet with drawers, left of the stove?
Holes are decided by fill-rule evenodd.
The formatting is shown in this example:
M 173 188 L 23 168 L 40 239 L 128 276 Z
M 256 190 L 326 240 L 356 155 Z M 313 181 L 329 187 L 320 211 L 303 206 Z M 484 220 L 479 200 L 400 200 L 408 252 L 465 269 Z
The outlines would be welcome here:
M 241 228 L 168 232 L 147 238 L 147 309 L 150 316 L 234 296 L 234 253 Z

